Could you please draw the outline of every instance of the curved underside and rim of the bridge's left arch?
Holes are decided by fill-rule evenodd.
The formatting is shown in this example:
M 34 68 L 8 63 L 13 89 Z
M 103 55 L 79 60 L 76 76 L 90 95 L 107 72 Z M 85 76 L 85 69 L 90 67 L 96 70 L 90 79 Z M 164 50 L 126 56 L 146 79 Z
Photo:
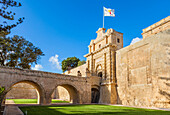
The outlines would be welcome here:
M 12 82 L 7 88 L 6 95 L 8 94 L 8 92 L 10 92 L 13 86 L 20 84 L 20 83 L 26 83 L 26 84 L 33 86 L 37 90 L 37 104 L 44 104 L 44 101 L 45 101 L 44 100 L 44 97 L 45 97 L 44 89 L 38 82 L 35 82 L 32 80 L 19 80 L 19 81 Z

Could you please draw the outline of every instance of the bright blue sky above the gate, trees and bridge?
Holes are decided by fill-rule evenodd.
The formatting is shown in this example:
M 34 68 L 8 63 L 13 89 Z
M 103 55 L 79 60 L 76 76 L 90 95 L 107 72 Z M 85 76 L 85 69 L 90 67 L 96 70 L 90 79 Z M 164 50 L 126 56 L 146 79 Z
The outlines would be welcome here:
M 67 57 L 85 59 L 87 46 L 102 27 L 103 6 L 115 9 L 115 17 L 105 17 L 105 28 L 122 32 L 124 47 L 142 38 L 142 29 L 170 15 L 170 0 L 20 1 L 22 7 L 12 9 L 25 20 L 10 36 L 23 36 L 42 49 L 39 69 L 56 73 L 62 73 L 60 64 Z

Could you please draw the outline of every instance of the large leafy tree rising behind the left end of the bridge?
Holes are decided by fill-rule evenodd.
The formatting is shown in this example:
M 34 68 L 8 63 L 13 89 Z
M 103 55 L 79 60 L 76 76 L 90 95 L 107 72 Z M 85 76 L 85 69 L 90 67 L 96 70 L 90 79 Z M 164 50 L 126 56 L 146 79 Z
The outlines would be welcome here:
M 30 69 L 37 64 L 43 52 L 23 37 L 0 37 L 0 65 Z

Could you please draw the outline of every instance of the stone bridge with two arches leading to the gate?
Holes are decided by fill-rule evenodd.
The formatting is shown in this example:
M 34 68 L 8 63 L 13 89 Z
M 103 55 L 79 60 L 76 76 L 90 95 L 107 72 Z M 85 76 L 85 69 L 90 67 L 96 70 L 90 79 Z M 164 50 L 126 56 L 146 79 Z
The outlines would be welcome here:
M 51 95 L 57 86 L 63 86 L 70 94 L 73 103 L 91 102 L 91 84 L 88 77 L 76 77 L 64 74 L 0 67 L 0 86 L 7 91 L 18 83 L 28 83 L 38 91 L 41 105 L 51 103 Z

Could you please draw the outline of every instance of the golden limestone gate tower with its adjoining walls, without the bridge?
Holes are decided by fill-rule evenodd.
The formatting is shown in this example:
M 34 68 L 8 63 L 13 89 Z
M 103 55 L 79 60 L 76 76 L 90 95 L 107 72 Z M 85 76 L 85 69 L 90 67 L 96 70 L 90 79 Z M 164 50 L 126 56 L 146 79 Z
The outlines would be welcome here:
M 83 74 L 101 77 L 99 103 L 170 108 L 170 16 L 143 29 L 144 39 L 125 48 L 122 33 L 96 33 Z

